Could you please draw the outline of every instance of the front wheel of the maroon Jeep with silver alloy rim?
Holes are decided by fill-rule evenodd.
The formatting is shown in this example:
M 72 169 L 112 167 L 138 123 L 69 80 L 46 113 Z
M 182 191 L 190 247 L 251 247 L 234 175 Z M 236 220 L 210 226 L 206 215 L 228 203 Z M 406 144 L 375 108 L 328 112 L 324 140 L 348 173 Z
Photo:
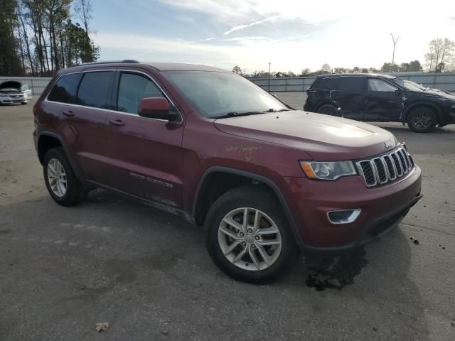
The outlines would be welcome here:
M 281 205 L 257 186 L 234 188 L 215 201 L 205 220 L 205 246 L 225 274 L 258 284 L 286 274 L 299 253 Z

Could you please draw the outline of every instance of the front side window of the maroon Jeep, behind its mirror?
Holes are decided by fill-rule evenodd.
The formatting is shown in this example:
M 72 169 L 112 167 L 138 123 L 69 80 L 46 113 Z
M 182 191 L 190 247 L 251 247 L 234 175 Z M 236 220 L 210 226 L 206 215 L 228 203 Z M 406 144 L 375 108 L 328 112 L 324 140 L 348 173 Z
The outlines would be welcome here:
M 154 82 L 141 75 L 122 73 L 119 83 L 117 110 L 137 114 L 139 102 L 147 97 L 164 97 Z

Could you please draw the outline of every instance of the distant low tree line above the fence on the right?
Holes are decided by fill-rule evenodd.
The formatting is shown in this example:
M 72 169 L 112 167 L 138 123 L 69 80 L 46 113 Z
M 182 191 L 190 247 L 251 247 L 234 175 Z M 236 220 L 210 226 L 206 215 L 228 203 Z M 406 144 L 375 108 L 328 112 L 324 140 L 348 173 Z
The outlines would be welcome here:
M 425 55 L 425 63 L 422 65 L 419 60 L 412 60 L 409 63 L 384 63 L 380 69 L 375 67 L 358 67 L 352 69 L 346 67 L 332 68 L 330 65 L 323 64 L 319 70 L 311 71 L 309 68 L 302 69 L 300 73 L 292 71 L 273 71 L 255 70 L 245 72 L 238 65 L 232 68 L 232 72 L 251 78 L 269 77 L 309 77 L 317 75 L 328 75 L 330 73 L 379 73 L 379 72 L 455 72 L 455 42 L 448 38 L 433 39 L 429 43 L 429 52 Z

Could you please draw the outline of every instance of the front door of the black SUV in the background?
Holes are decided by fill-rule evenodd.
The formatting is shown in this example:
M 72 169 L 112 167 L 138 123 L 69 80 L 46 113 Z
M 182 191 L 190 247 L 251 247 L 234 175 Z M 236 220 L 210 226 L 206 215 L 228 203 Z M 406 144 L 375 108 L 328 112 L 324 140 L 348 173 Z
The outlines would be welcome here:
M 365 120 L 397 121 L 402 110 L 403 92 L 380 78 L 368 78 Z

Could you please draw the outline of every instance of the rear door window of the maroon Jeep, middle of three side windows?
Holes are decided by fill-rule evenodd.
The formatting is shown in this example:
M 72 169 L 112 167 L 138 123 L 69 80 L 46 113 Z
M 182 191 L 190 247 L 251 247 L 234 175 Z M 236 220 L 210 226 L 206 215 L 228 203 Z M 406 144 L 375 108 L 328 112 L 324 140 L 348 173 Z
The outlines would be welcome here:
M 87 107 L 107 108 L 113 71 L 86 72 L 77 90 L 76 103 Z

